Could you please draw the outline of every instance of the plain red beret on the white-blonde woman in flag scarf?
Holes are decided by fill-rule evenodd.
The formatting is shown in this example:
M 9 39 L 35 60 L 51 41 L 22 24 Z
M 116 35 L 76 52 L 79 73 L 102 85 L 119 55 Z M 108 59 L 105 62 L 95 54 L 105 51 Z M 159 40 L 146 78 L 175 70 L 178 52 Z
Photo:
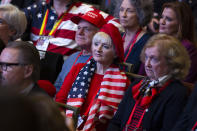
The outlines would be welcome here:
M 117 56 L 119 58 L 120 62 L 124 61 L 124 48 L 123 48 L 123 40 L 121 37 L 121 34 L 118 30 L 117 27 L 115 27 L 113 24 L 109 23 L 109 24 L 105 24 L 99 32 L 105 32 L 107 33 L 114 44 Z

